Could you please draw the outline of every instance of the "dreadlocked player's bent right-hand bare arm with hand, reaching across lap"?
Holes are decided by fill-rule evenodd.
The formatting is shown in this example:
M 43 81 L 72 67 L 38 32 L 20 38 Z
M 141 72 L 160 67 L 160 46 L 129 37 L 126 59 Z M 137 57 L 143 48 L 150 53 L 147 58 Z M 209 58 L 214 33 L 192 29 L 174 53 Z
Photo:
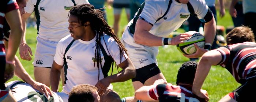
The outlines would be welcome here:
M 97 82 L 95 87 L 98 88 L 99 94 L 102 94 L 107 89 L 107 87 L 110 85 L 110 83 L 124 82 L 124 81 L 132 79 L 136 76 L 135 67 L 132 64 L 131 59 L 129 59 L 129 58 L 126 59 L 124 62 L 118 64 L 118 66 L 120 68 L 122 68 L 123 70 L 118 72 L 117 74 L 108 76 L 108 77 L 103 78 Z

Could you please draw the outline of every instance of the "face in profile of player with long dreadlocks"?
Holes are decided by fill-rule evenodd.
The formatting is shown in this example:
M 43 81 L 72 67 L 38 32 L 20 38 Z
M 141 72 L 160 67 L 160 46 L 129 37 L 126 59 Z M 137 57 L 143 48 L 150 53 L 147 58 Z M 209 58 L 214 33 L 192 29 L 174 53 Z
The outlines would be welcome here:
M 73 37 L 75 40 L 82 39 L 85 31 L 84 31 L 84 26 L 82 26 L 79 23 L 78 18 L 74 15 L 69 15 L 68 22 L 69 22 L 68 30 L 71 34 L 71 37 Z

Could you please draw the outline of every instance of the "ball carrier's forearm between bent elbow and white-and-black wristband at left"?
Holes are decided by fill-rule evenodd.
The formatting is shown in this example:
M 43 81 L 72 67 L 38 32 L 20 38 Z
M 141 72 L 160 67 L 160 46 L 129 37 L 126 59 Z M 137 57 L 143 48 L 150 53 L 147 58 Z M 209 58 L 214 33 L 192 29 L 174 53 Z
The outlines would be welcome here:
M 146 30 L 135 31 L 134 41 L 145 46 L 162 46 L 162 37 L 155 36 Z

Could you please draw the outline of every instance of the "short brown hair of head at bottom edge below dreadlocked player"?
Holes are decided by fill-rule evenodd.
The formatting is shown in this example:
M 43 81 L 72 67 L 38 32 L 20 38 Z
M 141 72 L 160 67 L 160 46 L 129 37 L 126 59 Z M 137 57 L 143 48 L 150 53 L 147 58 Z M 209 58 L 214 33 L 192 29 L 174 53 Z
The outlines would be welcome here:
M 97 87 L 89 84 L 76 85 L 69 93 L 68 102 L 94 102 L 95 91 Z

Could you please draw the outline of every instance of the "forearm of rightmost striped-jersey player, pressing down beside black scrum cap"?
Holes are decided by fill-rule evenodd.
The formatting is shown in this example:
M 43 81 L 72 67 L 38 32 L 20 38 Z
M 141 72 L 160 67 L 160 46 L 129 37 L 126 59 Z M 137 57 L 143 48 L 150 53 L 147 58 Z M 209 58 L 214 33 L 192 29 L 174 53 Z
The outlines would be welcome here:
M 197 94 L 200 93 L 200 89 L 203 86 L 204 80 L 211 69 L 211 63 L 208 58 L 202 57 L 197 66 L 195 79 L 193 82 L 192 91 Z

